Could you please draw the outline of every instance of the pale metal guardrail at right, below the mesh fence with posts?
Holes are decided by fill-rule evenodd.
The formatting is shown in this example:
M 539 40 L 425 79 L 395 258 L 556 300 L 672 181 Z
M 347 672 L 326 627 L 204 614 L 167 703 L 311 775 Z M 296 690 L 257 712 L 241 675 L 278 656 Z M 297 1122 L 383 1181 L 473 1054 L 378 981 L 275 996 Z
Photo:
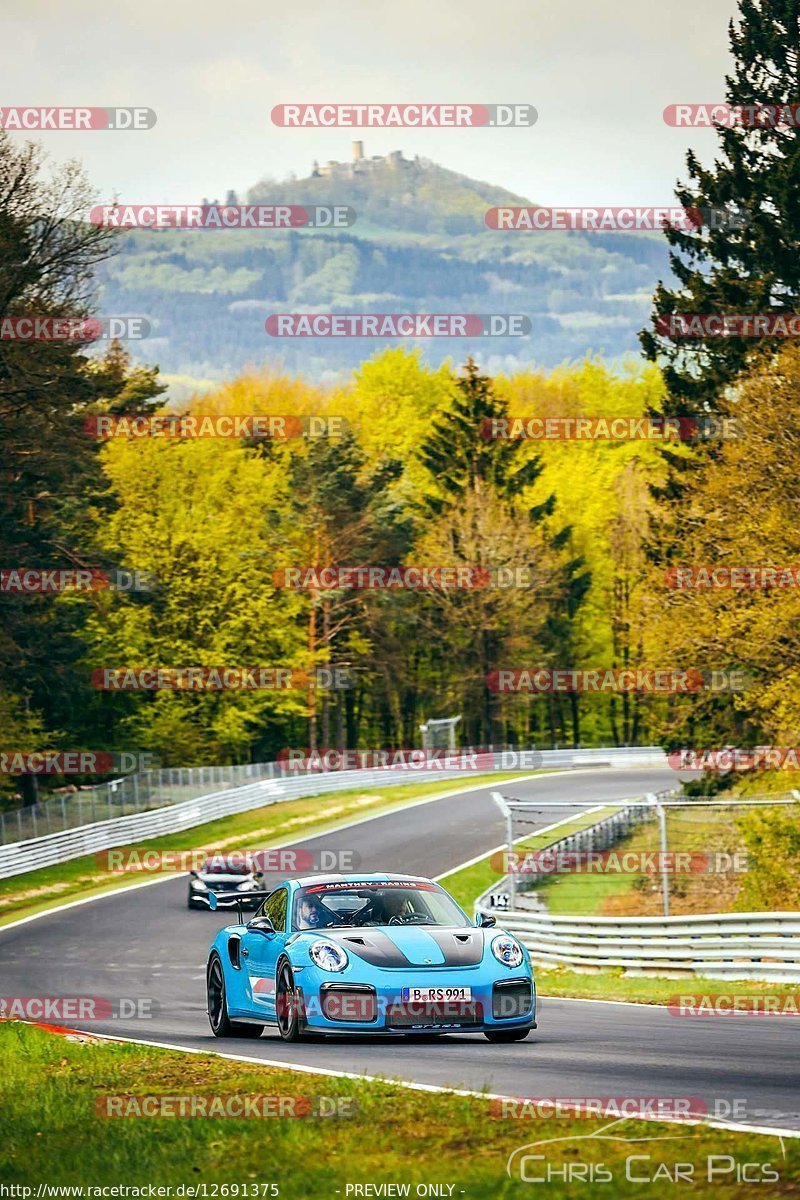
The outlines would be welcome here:
M 585 827 L 582 834 L 597 827 Z M 507 878 L 494 883 L 475 901 L 475 911 L 497 917 L 498 926 L 518 937 L 537 966 L 588 973 L 621 967 L 633 976 L 800 983 L 800 912 L 557 917 L 495 907 L 492 894 L 507 886 Z

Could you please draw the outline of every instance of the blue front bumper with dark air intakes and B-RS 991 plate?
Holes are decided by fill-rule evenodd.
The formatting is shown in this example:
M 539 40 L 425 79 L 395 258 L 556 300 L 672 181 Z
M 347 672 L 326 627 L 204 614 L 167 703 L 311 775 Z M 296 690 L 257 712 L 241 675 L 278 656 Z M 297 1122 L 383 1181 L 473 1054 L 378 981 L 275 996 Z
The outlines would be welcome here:
M 319 979 L 321 972 L 295 976 L 303 1026 L 318 1033 L 483 1033 L 492 1030 L 533 1027 L 536 1024 L 536 988 L 524 970 L 487 978 L 476 968 L 379 971 L 367 982 L 353 978 Z M 389 978 L 386 978 L 389 977 Z M 399 977 L 399 978 L 398 978 Z M 471 988 L 470 1001 L 409 1003 L 403 988 Z

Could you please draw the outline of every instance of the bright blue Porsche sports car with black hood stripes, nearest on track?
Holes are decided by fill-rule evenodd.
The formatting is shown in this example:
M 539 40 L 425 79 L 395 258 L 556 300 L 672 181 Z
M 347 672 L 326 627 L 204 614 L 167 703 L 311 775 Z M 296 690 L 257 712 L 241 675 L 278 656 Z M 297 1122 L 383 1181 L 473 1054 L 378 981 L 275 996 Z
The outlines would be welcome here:
M 217 899 L 210 895 L 211 907 Z M 410 875 L 285 880 L 247 924 L 217 934 L 206 971 L 218 1038 L 276 1024 L 303 1033 L 483 1033 L 536 1027 L 530 956 L 494 918 L 475 924 L 444 888 Z

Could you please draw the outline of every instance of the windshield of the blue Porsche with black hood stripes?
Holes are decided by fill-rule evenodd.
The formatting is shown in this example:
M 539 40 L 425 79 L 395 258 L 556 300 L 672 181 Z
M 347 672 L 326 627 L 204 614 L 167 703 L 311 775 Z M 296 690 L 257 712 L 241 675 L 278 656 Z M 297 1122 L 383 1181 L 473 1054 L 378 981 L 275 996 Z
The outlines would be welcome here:
M 469 925 L 455 900 L 435 883 L 314 883 L 300 888 L 293 928 L 353 925 Z

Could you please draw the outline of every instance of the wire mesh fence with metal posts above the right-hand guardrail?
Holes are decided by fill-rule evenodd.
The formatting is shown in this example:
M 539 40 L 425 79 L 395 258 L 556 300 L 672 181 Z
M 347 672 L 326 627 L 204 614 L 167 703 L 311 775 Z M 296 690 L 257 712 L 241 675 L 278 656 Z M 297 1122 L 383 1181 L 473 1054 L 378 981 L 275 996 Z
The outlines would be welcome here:
M 764 835 L 756 814 L 780 812 L 780 822 L 800 830 L 796 791 L 715 799 L 668 791 L 619 802 L 625 806 L 612 812 L 566 802 L 579 811 L 559 822 L 563 833 L 546 846 L 529 834 L 541 821 L 540 804 L 493 796 L 506 820 L 505 878 L 493 893 L 504 906 L 607 918 L 793 907 L 776 900 L 775 888 L 769 904 L 759 902 L 765 856 L 753 859 L 752 850 Z M 766 828 L 774 827 L 770 817 Z

